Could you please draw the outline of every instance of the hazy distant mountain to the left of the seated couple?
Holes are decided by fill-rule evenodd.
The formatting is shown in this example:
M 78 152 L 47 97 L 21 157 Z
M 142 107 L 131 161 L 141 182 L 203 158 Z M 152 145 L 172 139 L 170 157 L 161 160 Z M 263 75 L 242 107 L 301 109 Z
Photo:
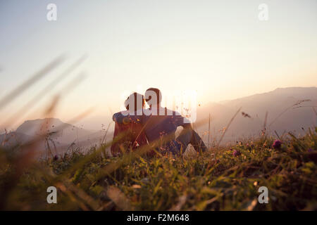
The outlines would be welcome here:
M 15 131 L 0 135 L 0 144 L 4 148 L 12 148 L 41 137 L 37 143 L 37 151 L 46 153 L 50 148 L 53 154 L 61 154 L 70 146 L 85 149 L 98 145 L 104 139 L 104 135 L 104 131 L 90 131 L 56 118 L 45 118 L 27 120 Z M 108 140 L 109 136 L 111 134 L 107 135 Z

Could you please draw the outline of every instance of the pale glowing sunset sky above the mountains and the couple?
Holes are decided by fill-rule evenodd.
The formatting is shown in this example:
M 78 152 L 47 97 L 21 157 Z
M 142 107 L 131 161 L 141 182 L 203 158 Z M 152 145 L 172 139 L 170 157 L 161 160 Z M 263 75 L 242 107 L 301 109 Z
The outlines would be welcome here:
M 49 21 L 48 4 L 57 20 Z M 259 20 L 260 4 L 268 20 Z M 17 117 L 44 116 L 61 94 L 54 117 L 82 120 L 101 129 L 124 99 L 149 87 L 165 96 L 195 91 L 197 104 L 273 91 L 317 86 L 317 1 L 0 0 L 0 99 L 54 58 L 63 62 L 0 108 L 2 121 L 63 74 L 42 98 Z M 85 78 L 71 85 L 77 76 Z M 66 91 L 68 90 L 68 91 Z M 9 127 L 10 127 L 9 126 Z M 8 124 L 0 124 L 0 129 Z

